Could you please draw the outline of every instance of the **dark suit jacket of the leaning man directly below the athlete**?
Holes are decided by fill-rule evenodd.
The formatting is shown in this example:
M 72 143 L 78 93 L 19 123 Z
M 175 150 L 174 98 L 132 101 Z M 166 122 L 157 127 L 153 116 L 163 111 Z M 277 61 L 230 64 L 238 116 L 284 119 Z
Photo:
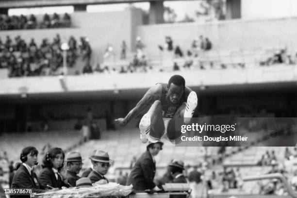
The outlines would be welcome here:
M 132 184 L 133 189 L 144 191 L 156 186 L 153 182 L 156 172 L 156 166 L 148 151 L 144 152 L 136 161 L 128 176 L 127 185 Z

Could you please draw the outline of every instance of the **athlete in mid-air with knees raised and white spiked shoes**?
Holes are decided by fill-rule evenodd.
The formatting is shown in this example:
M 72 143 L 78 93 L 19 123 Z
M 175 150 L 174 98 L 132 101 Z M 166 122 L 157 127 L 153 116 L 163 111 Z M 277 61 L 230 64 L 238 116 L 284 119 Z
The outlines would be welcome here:
M 174 75 L 168 84 L 157 83 L 151 87 L 126 117 L 117 118 L 115 122 L 125 126 L 133 117 L 147 112 L 139 123 L 142 143 L 163 138 L 173 141 L 181 135 L 175 132 L 176 118 L 183 117 L 188 124 L 197 103 L 196 93 L 185 86 L 184 78 Z

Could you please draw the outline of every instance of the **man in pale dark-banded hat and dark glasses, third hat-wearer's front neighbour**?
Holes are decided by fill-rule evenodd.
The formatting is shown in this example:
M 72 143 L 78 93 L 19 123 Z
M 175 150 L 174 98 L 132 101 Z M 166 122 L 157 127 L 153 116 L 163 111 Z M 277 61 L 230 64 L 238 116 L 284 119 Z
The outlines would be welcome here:
M 92 183 L 95 183 L 96 181 L 100 181 L 102 184 L 108 183 L 108 179 L 104 177 L 111 166 L 108 153 L 102 150 L 97 150 L 95 155 L 91 156 L 91 161 L 94 168 L 88 175 L 88 178 Z

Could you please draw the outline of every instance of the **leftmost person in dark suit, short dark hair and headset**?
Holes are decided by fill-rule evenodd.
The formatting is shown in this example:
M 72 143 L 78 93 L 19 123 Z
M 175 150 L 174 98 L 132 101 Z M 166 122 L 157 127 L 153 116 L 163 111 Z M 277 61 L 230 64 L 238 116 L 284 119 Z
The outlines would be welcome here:
M 33 172 L 37 165 L 38 150 L 35 147 L 23 148 L 20 154 L 22 164 L 17 167 L 13 177 L 12 188 L 33 188 L 34 193 L 44 193 L 44 187 L 40 184 L 37 175 Z M 30 195 L 11 195 L 11 198 L 30 198 Z

